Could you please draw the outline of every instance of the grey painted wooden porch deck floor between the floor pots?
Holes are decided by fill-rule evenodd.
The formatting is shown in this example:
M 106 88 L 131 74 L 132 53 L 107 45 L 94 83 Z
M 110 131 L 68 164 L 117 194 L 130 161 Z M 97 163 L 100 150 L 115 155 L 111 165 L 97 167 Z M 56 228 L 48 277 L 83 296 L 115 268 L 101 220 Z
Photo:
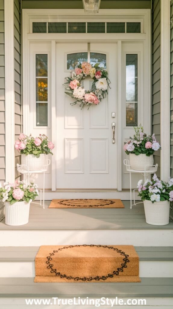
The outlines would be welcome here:
M 130 209 L 130 201 L 123 201 L 121 209 L 53 209 L 48 208 L 51 201 L 45 202 L 45 209 L 31 204 L 29 222 L 23 226 L 8 226 L 4 216 L 1 218 L 1 230 L 135 230 L 135 229 L 173 229 L 173 221 L 168 225 L 147 224 L 143 204 Z

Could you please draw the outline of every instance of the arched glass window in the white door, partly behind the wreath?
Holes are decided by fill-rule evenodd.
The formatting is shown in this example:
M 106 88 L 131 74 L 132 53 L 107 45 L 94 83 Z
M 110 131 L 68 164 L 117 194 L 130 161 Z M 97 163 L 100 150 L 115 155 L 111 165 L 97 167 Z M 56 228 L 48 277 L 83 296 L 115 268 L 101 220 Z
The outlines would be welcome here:
M 74 70 L 83 61 L 88 61 L 88 52 L 67 54 L 67 70 Z M 106 54 L 91 52 L 90 63 L 93 66 L 100 63 L 100 66 L 106 69 Z

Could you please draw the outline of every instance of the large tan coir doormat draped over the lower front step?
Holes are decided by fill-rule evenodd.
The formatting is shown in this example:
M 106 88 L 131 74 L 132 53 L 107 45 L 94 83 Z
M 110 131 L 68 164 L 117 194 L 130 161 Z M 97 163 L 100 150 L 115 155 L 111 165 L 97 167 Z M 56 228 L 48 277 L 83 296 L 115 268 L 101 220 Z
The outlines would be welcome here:
M 140 282 L 133 246 L 41 246 L 34 282 Z

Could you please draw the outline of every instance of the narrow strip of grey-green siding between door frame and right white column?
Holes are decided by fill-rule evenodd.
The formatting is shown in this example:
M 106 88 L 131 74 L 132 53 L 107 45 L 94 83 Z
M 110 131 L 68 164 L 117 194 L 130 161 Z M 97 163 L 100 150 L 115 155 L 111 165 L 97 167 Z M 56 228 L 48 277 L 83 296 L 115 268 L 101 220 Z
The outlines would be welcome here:
M 152 1 L 152 133 L 160 142 L 160 0 Z M 160 151 L 154 153 L 160 177 Z

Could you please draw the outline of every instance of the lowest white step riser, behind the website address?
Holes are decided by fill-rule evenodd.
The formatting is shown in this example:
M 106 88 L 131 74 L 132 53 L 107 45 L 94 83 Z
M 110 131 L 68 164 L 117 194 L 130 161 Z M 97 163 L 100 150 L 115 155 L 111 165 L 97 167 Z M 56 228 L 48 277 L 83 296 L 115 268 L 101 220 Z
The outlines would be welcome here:
M 57 296 L 58 297 L 58 296 Z M 121 297 L 122 299 L 123 299 L 123 301 L 125 302 L 125 303 L 127 303 L 127 301 L 128 301 L 128 299 L 129 298 L 123 298 L 123 297 Z M 135 298 L 135 297 L 131 297 L 131 299 L 133 299 L 133 298 Z M 29 297 L 27 297 L 26 299 L 29 299 Z M 31 299 L 33 299 L 33 298 L 31 298 Z M 40 299 L 40 298 L 35 298 L 35 299 Z M 45 300 L 46 298 L 41 298 L 41 299 L 43 299 L 43 300 Z M 61 299 L 64 299 L 64 298 L 61 298 Z M 69 299 L 69 298 L 66 298 L 66 299 Z M 70 298 L 70 299 L 72 299 L 72 298 Z M 83 299 L 83 298 L 81 298 L 81 299 Z M 96 299 L 96 298 L 92 298 L 92 299 Z M 109 299 L 111 299 L 111 300 L 113 300 L 113 298 L 109 298 Z M 136 297 L 135 299 L 146 299 L 146 305 L 145 306 L 138 306 L 138 305 L 136 305 L 136 306 L 132 306 L 132 308 L 135 308 L 135 309 L 141 309 L 141 308 L 144 308 L 144 309 L 160 309 L 160 308 L 162 308 L 162 309 L 171 309 L 172 308 L 172 304 L 173 304 L 173 298 L 160 298 L 160 297 L 158 297 L 158 298 L 153 298 L 153 297 L 147 297 L 147 298 L 145 298 L 145 297 L 140 297 L 140 298 L 138 298 L 138 297 Z M 28 306 L 28 305 L 26 305 L 26 301 L 25 301 L 25 298 L 0 298 L 0 306 L 3 306 L 3 309 L 19 309 L 19 307 L 18 306 L 22 306 L 22 309 L 27 309 L 28 307 L 30 307 L 30 306 Z M 34 308 L 34 309 L 37 309 L 37 308 L 39 308 L 39 309 L 50 309 L 50 307 L 51 307 L 51 309 L 57 309 L 57 306 L 54 306 L 54 305 L 44 305 L 44 306 L 42 306 L 42 305 L 37 305 L 37 306 L 34 306 L 34 305 L 32 305 L 32 308 Z M 115 306 L 117 309 L 127 309 L 127 308 L 130 308 L 129 306 L 123 306 L 123 305 L 121 305 L 121 306 L 118 306 L 118 305 L 116 305 Z M 97 308 L 97 307 L 95 307 L 94 305 L 93 306 L 73 306 L 73 305 L 67 305 L 67 306 L 58 306 L 58 308 L 59 309 L 66 309 L 66 308 L 69 308 L 69 309 L 76 309 L 76 308 L 78 308 L 78 309 L 94 309 L 94 308 Z M 111 306 L 106 306 L 106 305 L 104 305 L 104 307 L 103 306 L 100 306 L 100 307 L 98 307 L 98 308 L 104 308 L 104 309 L 110 309 L 111 308 Z M 114 308 L 114 307 L 113 307 Z

